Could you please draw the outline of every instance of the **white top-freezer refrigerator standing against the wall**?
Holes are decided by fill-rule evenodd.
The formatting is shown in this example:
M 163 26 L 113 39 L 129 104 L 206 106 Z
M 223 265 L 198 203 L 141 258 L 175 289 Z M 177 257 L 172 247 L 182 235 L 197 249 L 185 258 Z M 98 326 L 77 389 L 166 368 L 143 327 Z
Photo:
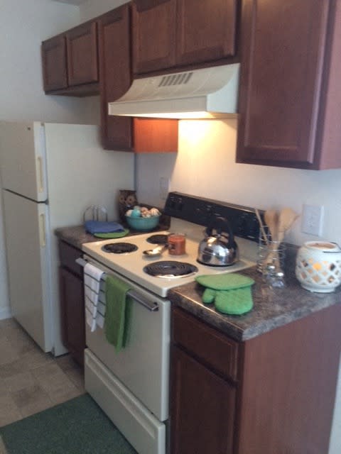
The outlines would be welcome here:
M 116 220 L 118 190 L 134 189 L 134 153 L 103 150 L 97 126 L 1 121 L 0 167 L 11 314 L 62 355 L 55 228 L 81 225 L 92 204 Z

